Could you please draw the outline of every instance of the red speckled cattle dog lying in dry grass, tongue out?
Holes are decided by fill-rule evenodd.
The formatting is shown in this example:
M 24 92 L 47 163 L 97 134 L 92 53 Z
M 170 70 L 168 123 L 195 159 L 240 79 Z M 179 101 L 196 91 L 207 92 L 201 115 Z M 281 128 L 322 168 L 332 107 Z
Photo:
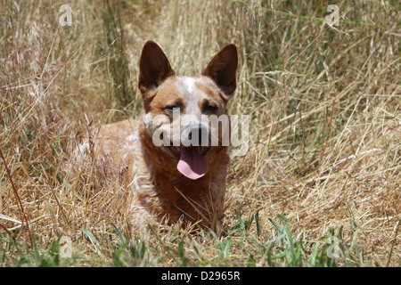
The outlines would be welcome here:
M 130 194 L 127 217 L 137 228 L 156 217 L 216 231 L 223 221 L 230 161 L 222 135 L 229 130 L 216 131 L 202 118 L 227 116 L 237 66 L 237 48 L 231 44 L 213 57 L 201 76 L 177 76 L 160 46 L 146 42 L 138 80 L 143 117 L 100 126 L 78 147 L 76 169 L 88 171 L 82 158 L 91 153 L 100 173 L 96 179 L 125 185 Z M 191 119 L 184 122 L 185 117 Z M 212 138 L 217 143 L 212 144 Z

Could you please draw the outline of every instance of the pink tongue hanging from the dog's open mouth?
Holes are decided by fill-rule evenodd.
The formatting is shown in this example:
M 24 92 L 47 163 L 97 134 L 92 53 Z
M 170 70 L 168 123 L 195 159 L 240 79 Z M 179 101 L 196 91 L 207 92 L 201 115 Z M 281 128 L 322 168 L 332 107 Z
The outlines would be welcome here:
M 197 147 L 182 147 L 181 158 L 176 168 L 186 177 L 196 180 L 206 175 L 209 164 Z

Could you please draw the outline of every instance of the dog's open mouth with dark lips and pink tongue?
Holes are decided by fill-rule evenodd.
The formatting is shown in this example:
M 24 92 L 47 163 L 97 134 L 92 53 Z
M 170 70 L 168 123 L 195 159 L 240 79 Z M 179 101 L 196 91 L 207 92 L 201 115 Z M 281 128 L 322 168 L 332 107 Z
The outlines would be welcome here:
M 208 173 L 209 163 L 206 160 L 206 154 L 210 147 L 170 145 L 167 148 L 179 160 L 176 168 L 185 177 L 196 180 Z

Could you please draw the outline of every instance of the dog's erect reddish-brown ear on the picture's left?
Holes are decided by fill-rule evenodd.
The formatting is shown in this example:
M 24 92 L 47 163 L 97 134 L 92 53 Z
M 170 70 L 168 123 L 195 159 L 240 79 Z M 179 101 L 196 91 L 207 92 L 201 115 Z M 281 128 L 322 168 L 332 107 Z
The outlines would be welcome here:
M 142 94 L 159 86 L 166 78 L 175 74 L 160 46 L 153 41 L 146 42 L 139 61 L 138 87 Z

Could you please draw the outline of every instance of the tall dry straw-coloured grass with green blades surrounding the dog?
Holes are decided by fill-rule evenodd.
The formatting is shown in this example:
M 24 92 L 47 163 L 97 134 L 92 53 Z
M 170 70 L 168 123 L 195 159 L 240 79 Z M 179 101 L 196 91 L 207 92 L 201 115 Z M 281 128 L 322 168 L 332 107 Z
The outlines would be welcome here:
M 0 0 L 0 15 L 0 266 L 401 265 L 399 1 Z M 90 126 L 141 114 L 149 39 L 190 76 L 238 47 L 229 110 L 250 116 L 250 149 L 221 235 L 131 231 L 124 189 L 64 179 Z

